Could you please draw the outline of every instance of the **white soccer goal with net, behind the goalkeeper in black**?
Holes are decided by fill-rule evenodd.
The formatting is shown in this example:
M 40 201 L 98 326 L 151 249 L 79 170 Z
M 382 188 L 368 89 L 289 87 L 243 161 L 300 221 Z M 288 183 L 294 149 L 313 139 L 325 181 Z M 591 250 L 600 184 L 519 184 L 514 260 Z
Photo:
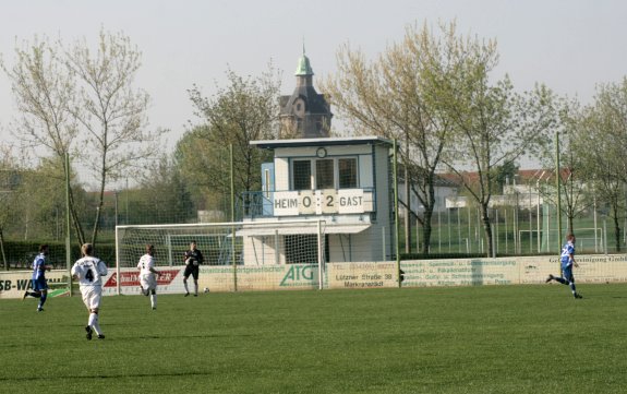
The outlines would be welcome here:
M 120 272 L 136 267 L 146 244 L 155 247 L 157 267 L 172 267 L 184 265 L 191 241 L 204 265 L 232 266 L 236 287 L 238 267 L 315 264 L 322 289 L 325 227 L 319 219 L 116 226 L 118 294 Z

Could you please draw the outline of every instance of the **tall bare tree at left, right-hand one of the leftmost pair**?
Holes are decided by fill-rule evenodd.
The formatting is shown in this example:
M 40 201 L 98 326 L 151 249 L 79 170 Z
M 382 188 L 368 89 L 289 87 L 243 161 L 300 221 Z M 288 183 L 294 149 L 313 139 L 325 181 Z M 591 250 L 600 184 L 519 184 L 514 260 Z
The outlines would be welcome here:
M 64 55 L 79 86 L 70 112 L 84 135 L 80 157 L 99 183 L 92 227 L 92 243 L 96 243 L 108 182 L 155 158 L 166 130 L 147 129 L 148 94 L 133 86 L 141 52 L 129 37 L 100 32 L 95 53 L 83 40 Z

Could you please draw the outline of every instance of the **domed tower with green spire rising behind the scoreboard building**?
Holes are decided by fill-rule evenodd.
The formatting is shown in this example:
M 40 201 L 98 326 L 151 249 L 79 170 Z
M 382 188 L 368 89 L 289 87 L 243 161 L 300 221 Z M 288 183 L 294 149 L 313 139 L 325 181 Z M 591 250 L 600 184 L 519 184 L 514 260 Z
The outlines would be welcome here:
M 330 105 L 324 95 L 313 87 L 313 70 L 309 58 L 303 56 L 294 73 L 297 87 L 291 96 L 280 97 L 281 139 L 317 139 L 329 136 Z

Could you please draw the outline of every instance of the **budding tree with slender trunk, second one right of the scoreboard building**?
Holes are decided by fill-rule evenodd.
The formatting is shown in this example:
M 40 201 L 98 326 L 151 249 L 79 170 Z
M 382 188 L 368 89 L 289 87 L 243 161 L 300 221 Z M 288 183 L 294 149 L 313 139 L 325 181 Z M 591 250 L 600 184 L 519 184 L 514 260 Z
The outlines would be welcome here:
M 491 256 L 489 206 L 496 190 L 494 169 L 545 144 L 554 119 L 546 107 L 550 92 L 545 87 L 518 94 L 507 75 L 492 82 L 491 72 L 498 63 L 495 41 L 468 39 L 460 53 L 459 68 L 442 81 L 438 91 L 455 128 L 455 143 L 448 145 L 444 162 L 480 208 Z

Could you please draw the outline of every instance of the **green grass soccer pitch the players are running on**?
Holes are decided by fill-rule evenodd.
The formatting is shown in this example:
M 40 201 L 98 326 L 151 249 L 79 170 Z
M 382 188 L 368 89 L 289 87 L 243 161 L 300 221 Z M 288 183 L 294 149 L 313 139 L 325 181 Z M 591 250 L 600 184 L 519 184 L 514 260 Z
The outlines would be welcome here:
M 0 300 L 0 393 L 625 393 L 627 285 Z

